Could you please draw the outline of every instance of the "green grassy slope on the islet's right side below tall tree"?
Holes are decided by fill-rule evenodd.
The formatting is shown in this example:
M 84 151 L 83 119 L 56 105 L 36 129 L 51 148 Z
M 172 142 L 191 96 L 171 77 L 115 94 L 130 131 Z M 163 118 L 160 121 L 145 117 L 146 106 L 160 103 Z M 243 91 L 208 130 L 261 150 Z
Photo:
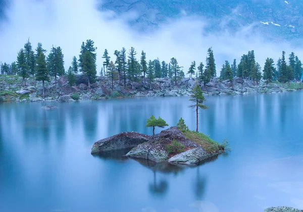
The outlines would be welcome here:
M 228 146 L 227 140 L 223 140 L 222 144 L 215 142 L 209 136 L 196 131 L 181 131 L 186 138 L 193 140 L 197 144 L 201 145 L 208 153 L 218 153 L 219 151 L 226 150 Z

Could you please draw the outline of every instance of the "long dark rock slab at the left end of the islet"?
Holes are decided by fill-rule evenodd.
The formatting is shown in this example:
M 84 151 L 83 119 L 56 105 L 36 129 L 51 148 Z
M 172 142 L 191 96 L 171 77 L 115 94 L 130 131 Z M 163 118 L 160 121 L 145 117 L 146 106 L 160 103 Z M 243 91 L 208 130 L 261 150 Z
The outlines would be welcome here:
M 137 147 L 149 139 L 149 135 L 139 132 L 122 132 L 94 143 L 91 153 Z

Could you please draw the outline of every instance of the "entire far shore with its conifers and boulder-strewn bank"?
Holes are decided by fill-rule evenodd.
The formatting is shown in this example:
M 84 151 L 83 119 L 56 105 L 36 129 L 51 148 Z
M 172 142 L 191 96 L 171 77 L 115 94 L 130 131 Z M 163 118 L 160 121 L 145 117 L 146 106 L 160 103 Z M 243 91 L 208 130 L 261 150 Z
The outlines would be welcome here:
M 111 58 L 104 50 L 103 66 L 97 76 L 94 41 L 82 42 L 78 58 L 72 57 L 65 69 L 64 50 L 49 52 L 38 43 L 35 50 L 29 39 L 17 53 L 16 61 L 0 62 L 0 101 L 87 101 L 142 96 L 189 96 L 196 85 L 206 95 L 277 93 L 302 89 L 302 64 L 285 51 L 276 65 L 266 58 L 264 68 L 256 62 L 254 50 L 237 63 L 225 61 L 217 76 L 214 51 L 207 50 L 205 64 L 192 61 L 187 72 L 175 57 L 169 62 L 147 60 L 146 53 L 131 47 L 115 50 Z M 185 73 L 189 78 L 185 78 Z

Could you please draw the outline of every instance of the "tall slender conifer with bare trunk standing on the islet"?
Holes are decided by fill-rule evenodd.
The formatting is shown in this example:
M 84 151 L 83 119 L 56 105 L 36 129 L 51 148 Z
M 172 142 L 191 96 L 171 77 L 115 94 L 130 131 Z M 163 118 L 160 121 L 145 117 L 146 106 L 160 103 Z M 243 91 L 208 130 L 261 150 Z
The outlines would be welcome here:
M 209 68 L 208 68 L 209 69 Z M 211 72 L 210 72 L 211 73 Z M 198 109 L 208 109 L 206 105 L 203 105 L 203 103 L 206 101 L 206 99 L 203 96 L 203 91 L 201 90 L 199 85 L 196 85 L 191 90 L 191 95 L 189 101 L 193 102 L 193 105 L 190 105 L 189 107 L 195 108 L 196 111 L 196 131 L 198 132 Z

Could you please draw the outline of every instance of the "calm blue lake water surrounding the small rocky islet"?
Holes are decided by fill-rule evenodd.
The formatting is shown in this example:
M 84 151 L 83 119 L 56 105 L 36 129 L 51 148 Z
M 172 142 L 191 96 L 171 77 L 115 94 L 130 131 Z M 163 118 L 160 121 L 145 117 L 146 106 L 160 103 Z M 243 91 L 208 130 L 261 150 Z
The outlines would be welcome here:
M 303 208 L 303 92 L 207 96 L 199 130 L 231 152 L 198 167 L 91 156 L 150 115 L 195 129 L 186 97 L 0 104 L 0 211 L 258 212 Z M 48 103 L 49 104 L 49 103 Z M 160 132 L 157 129 L 157 132 Z

